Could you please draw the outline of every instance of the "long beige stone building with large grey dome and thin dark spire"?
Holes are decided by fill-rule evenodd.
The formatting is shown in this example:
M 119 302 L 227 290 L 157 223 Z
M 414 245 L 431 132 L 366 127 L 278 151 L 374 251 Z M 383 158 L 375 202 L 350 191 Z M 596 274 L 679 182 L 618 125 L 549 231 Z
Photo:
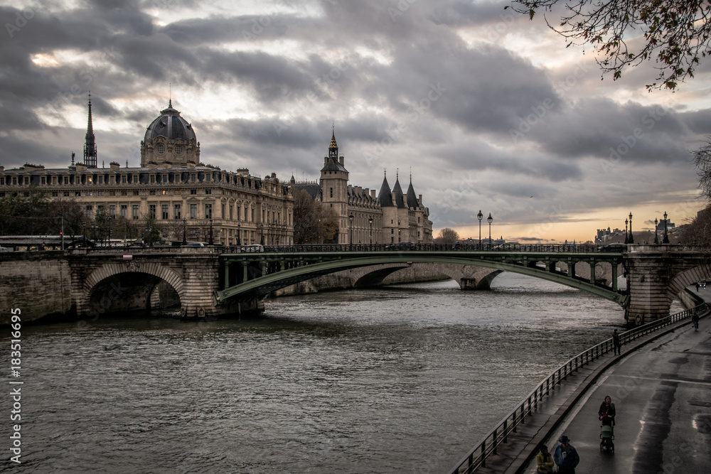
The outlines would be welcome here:
M 223 170 L 200 162 L 193 126 L 172 101 L 146 129 L 139 167 L 98 159 L 91 99 L 83 163 L 48 169 L 26 163 L 0 166 L 0 197 L 42 192 L 81 203 L 87 233 L 97 242 L 135 242 L 148 232 L 166 241 L 223 245 L 293 244 L 294 195 L 275 173 L 261 178 L 246 168 Z M 101 167 L 99 167 L 101 166 Z M 102 219 L 97 225 L 95 217 Z M 57 230 L 59 233 L 59 229 Z M 71 235 L 65 232 L 66 235 Z

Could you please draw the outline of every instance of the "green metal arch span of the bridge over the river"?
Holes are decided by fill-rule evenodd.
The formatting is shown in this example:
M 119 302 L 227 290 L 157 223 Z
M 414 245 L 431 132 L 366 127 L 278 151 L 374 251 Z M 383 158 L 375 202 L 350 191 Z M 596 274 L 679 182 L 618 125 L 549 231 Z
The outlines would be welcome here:
M 570 286 L 575 289 L 582 291 L 587 291 L 597 296 L 602 296 L 609 301 L 614 301 L 621 306 L 626 304 L 626 296 L 623 296 L 611 289 L 605 289 L 602 286 L 597 286 L 594 284 L 587 283 L 586 281 L 581 281 L 578 279 L 570 278 L 569 276 L 564 276 L 560 274 L 551 273 L 550 271 L 530 268 L 525 264 L 515 264 L 512 261 L 519 260 L 520 254 L 488 254 L 488 258 L 500 258 L 506 259 L 508 262 L 497 262 L 491 259 L 483 259 L 481 255 L 477 254 L 476 257 L 463 257 L 461 255 L 454 256 L 451 254 L 427 254 L 419 252 L 407 252 L 405 253 L 390 253 L 387 255 L 367 255 L 363 257 L 350 257 L 350 258 L 339 258 L 333 260 L 327 260 L 325 262 L 319 262 L 314 264 L 309 264 L 306 266 L 298 266 L 294 269 L 282 270 L 274 274 L 269 274 L 265 276 L 260 276 L 257 279 L 246 281 L 245 283 L 232 286 L 228 289 L 222 291 L 215 291 L 215 301 L 217 303 L 224 303 L 230 298 L 244 298 L 244 297 L 262 297 L 274 291 L 275 289 L 284 288 L 298 281 L 309 280 L 315 276 L 321 276 L 325 274 L 335 273 L 336 271 L 348 270 L 353 268 L 358 268 L 361 266 L 371 266 L 378 264 L 395 264 L 395 263 L 439 263 L 439 264 L 464 264 L 464 265 L 474 265 L 483 266 L 491 269 L 498 269 L 503 271 L 511 271 L 513 273 L 534 276 L 535 278 L 545 279 L 548 281 L 554 281 L 555 283 Z M 276 255 L 274 257 L 277 257 Z M 279 255 L 279 258 L 275 259 L 289 259 L 289 257 L 294 257 L 294 255 Z M 300 255 L 299 257 L 304 257 Z M 319 256 L 323 258 L 324 256 Z M 319 257 L 313 257 L 318 259 Z M 477 258 L 478 257 L 478 258 Z M 530 262 L 531 259 L 536 259 L 536 261 L 547 262 L 550 261 L 551 254 L 526 254 L 525 259 L 520 259 L 523 262 Z M 563 254 L 557 254 L 555 257 L 564 257 Z M 565 254 L 565 257 L 569 257 Z M 585 259 L 582 254 L 576 254 L 574 256 L 578 262 L 582 262 Z M 600 257 L 597 255 L 596 257 Z M 266 255 L 262 255 L 263 259 L 268 259 Z M 271 260 L 271 259 L 269 259 Z M 565 259 L 555 259 L 556 261 L 565 262 Z M 602 262 L 604 260 L 601 260 Z M 609 262 L 612 263 L 612 262 Z M 612 263 L 616 265 L 616 263 Z M 261 290 L 261 291 L 260 291 Z

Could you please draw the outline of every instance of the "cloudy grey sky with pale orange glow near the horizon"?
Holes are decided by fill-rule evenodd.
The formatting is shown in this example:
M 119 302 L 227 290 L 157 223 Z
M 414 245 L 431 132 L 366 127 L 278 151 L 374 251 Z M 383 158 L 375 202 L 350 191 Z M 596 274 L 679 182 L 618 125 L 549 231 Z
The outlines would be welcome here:
M 604 77 L 506 0 L 1 0 L 0 165 L 68 166 L 91 91 L 99 160 L 139 165 L 172 98 L 201 158 L 317 180 L 335 124 L 351 183 L 412 173 L 435 233 L 592 239 L 703 207 L 690 151 L 711 74 Z M 634 40 L 633 40 L 634 41 Z M 488 229 L 483 222 L 483 235 Z

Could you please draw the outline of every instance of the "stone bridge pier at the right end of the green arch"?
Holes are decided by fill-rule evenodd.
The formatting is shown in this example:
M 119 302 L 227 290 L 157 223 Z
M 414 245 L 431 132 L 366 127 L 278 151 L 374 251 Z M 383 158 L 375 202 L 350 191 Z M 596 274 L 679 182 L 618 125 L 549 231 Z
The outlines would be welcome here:
M 631 245 L 626 254 L 630 303 L 625 318 L 636 325 L 669 316 L 674 298 L 696 281 L 711 277 L 710 256 L 670 245 Z

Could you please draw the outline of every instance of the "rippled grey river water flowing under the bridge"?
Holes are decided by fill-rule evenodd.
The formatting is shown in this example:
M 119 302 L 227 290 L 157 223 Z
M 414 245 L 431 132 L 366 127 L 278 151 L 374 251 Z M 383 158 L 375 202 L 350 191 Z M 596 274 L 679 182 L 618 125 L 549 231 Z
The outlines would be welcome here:
M 289 296 L 264 316 L 25 325 L 22 464 L 0 470 L 443 473 L 624 323 L 610 301 L 508 273 L 491 291 Z

